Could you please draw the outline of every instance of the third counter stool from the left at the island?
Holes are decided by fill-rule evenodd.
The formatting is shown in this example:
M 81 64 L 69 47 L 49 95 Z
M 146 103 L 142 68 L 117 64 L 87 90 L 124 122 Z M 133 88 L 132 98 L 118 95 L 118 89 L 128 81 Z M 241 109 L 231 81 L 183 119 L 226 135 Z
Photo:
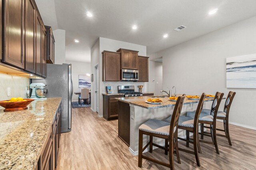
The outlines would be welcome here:
M 204 141 L 204 140 L 199 140 L 200 142 L 203 143 L 208 143 L 208 144 L 212 144 L 215 146 L 216 149 L 216 153 L 220 154 L 219 149 L 218 149 L 218 144 L 217 144 L 217 137 L 216 137 L 216 119 L 217 119 L 217 112 L 220 106 L 220 102 L 223 98 L 224 93 L 220 93 L 220 92 L 216 92 L 213 102 L 212 102 L 212 107 L 210 110 L 211 114 L 207 114 L 207 113 L 201 113 L 199 116 L 199 123 L 201 123 L 201 133 L 199 133 L 201 135 L 201 139 L 204 139 L 204 135 L 208 136 L 208 137 L 212 137 L 212 142 L 210 141 Z M 195 112 L 194 111 L 188 111 L 186 117 L 195 117 Z M 210 127 L 208 126 L 204 126 L 204 124 L 208 124 L 210 125 Z M 208 132 L 204 132 L 204 127 L 205 128 L 209 128 L 210 129 L 210 133 Z M 206 134 L 204 134 L 206 133 Z

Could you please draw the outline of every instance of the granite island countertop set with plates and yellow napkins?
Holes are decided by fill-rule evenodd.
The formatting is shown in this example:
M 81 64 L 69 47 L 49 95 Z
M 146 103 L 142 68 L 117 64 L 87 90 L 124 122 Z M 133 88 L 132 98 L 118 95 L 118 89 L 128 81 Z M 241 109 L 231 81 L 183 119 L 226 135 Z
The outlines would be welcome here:
M 178 96 L 182 96 L 182 94 L 178 94 Z M 161 104 L 148 104 L 145 101 L 148 98 L 152 98 L 152 96 L 139 96 L 139 97 L 126 97 L 126 98 L 116 98 L 119 101 L 128 103 L 128 104 L 132 104 L 135 106 L 140 106 L 140 107 L 144 107 L 146 109 L 156 109 L 156 108 L 161 108 L 161 107 L 172 107 L 175 106 L 176 102 L 174 101 L 170 101 L 168 97 L 163 98 L 162 96 L 158 97 L 158 96 L 153 96 L 154 98 L 159 98 L 160 100 L 162 100 L 163 102 Z M 213 101 L 212 99 L 206 98 L 204 100 L 205 102 L 209 102 L 209 101 Z M 199 100 L 190 100 L 188 98 L 185 98 L 183 104 L 195 104 L 198 103 Z

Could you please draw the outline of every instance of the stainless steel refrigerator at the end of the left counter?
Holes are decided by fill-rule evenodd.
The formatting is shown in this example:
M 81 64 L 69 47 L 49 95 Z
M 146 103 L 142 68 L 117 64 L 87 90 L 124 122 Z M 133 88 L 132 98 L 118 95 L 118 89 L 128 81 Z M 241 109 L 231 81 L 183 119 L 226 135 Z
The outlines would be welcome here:
M 73 84 L 71 64 L 46 64 L 47 77 L 32 79 L 32 83 L 44 83 L 48 89 L 47 98 L 62 97 L 61 133 L 71 131 L 71 99 Z

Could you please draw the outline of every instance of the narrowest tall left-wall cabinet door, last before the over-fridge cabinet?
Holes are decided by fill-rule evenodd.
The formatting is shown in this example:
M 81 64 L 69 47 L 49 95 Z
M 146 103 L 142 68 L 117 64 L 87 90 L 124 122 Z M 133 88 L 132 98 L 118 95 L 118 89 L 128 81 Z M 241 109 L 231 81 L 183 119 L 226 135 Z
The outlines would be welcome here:
M 42 77 L 46 77 L 46 29 L 42 27 Z

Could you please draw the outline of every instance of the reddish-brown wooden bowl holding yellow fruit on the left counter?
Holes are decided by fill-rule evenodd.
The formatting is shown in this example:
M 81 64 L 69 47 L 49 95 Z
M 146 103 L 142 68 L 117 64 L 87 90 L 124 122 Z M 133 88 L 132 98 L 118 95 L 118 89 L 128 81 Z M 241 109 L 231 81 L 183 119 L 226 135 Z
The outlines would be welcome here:
M 34 99 L 26 99 L 24 102 L 4 102 L 9 100 L 0 101 L 0 106 L 4 107 L 4 111 L 18 111 L 28 109 L 28 105 L 34 101 Z

